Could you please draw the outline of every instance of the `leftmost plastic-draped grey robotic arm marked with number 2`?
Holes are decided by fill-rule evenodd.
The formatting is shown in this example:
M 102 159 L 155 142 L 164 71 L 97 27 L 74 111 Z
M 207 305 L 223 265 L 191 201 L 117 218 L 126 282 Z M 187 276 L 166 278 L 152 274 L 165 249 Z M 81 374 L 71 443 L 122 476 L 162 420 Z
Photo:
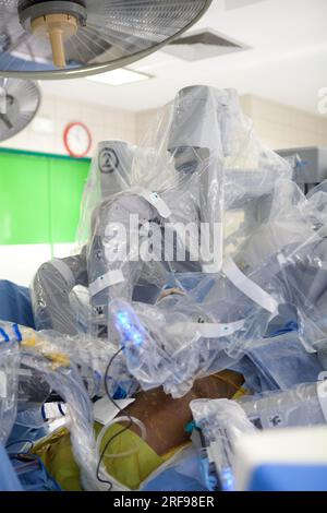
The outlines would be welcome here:
M 110 217 L 111 208 L 116 213 L 123 210 L 110 206 L 110 196 L 128 188 L 134 146 L 123 141 L 99 144 L 86 186 L 87 200 L 92 198 L 87 207 L 95 207 L 94 212 L 92 210 L 87 212 L 88 217 L 93 214 L 94 231 L 90 241 L 83 247 L 80 254 L 53 259 L 38 269 L 31 287 L 37 330 L 56 330 L 68 335 L 77 334 L 70 293 L 76 285 L 89 286 L 90 293 L 97 291 L 95 282 L 97 278 L 101 279 L 105 274 L 101 255 L 105 253 L 106 227 L 100 227 L 100 224 L 105 222 L 106 212 Z M 118 206 L 119 202 L 116 204 Z M 93 305 L 97 306 L 99 295 L 94 294 L 94 296 L 97 297 Z

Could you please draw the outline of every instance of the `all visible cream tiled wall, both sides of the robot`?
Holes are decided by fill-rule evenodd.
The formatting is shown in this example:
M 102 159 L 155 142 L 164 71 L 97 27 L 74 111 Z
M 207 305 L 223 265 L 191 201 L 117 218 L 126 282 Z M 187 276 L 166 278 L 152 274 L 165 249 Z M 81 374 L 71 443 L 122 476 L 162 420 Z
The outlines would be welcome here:
M 254 120 L 255 129 L 264 142 L 277 150 L 282 147 L 323 145 L 327 146 L 327 116 L 312 115 L 253 95 L 241 96 L 244 112 Z M 140 143 L 143 133 L 157 110 L 130 112 L 69 102 L 57 96 L 46 96 L 37 115 L 51 120 L 53 133 L 43 133 L 31 123 L 14 138 L 0 146 L 46 153 L 66 154 L 63 131 L 68 123 L 82 121 L 90 130 L 93 155 L 97 142 L 123 139 Z

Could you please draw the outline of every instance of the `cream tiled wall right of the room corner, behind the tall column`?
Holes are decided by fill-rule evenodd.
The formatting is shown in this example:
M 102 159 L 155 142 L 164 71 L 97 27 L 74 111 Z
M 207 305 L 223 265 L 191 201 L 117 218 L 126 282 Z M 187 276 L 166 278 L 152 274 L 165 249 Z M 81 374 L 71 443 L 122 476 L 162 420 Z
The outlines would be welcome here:
M 272 150 L 299 146 L 327 147 L 327 116 L 312 115 L 252 95 L 240 98 L 243 111 L 253 119 L 258 136 Z M 136 142 L 156 115 L 146 110 L 136 115 Z

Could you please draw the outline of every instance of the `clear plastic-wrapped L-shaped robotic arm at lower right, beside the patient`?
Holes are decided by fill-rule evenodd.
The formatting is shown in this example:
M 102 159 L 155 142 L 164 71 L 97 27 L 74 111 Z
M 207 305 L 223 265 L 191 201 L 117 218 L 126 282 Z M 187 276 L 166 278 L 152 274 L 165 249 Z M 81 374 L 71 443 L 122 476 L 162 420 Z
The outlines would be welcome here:
M 202 433 L 202 464 L 208 489 L 235 490 L 235 452 L 244 434 L 261 430 L 324 426 L 326 382 L 301 383 L 290 390 L 254 397 L 196 399 L 191 409 Z M 207 465 L 205 465 L 205 462 Z

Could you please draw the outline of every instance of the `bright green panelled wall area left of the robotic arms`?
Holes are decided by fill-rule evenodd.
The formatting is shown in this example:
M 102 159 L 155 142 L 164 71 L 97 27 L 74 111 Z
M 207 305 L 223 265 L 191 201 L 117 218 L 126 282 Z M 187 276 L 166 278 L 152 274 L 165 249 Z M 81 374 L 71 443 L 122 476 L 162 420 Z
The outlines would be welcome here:
M 0 244 L 73 242 L 88 159 L 0 151 Z

